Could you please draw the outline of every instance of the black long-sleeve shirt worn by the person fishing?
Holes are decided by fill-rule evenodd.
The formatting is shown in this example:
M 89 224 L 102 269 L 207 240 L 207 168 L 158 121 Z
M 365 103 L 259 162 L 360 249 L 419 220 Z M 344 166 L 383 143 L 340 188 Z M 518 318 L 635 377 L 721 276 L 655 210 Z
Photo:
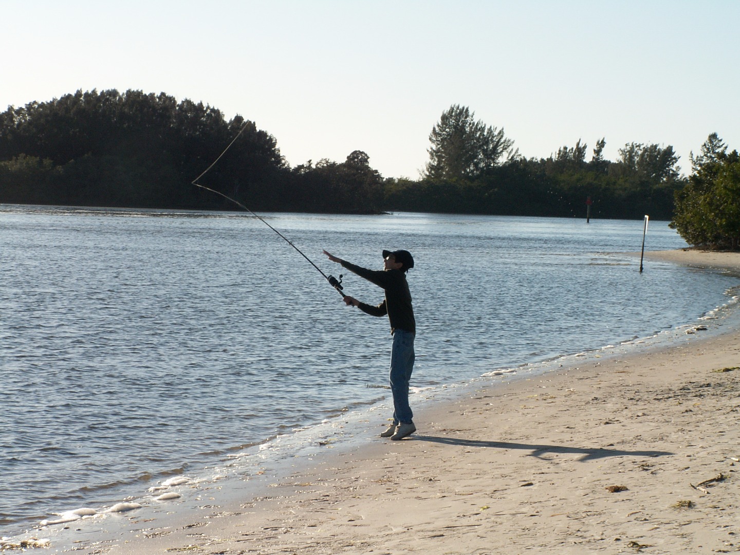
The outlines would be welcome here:
M 342 260 L 342 266 L 360 277 L 364 277 L 386 292 L 386 298 L 377 306 L 360 303 L 357 308 L 371 316 L 385 316 L 391 323 L 391 334 L 396 329 L 416 333 L 414 307 L 411 306 L 411 292 L 408 291 L 406 274 L 400 270 L 369 270 Z

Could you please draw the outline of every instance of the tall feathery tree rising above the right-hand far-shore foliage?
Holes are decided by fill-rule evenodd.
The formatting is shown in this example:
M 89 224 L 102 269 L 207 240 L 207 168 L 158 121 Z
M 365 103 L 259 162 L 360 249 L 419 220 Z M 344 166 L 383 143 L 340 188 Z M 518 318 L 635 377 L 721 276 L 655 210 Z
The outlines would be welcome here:
M 475 178 L 511 153 L 514 141 L 497 129 L 474 119 L 468 107 L 454 104 L 431 129 L 431 147 L 425 177 Z

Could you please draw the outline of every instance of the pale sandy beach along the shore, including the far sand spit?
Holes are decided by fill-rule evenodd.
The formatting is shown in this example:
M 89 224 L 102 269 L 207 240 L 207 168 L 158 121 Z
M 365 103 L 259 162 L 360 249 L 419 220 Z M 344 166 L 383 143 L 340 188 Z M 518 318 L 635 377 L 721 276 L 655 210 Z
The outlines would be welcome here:
M 740 274 L 738 253 L 646 259 Z M 670 349 L 429 403 L 406 440 L 377 437 L 266 495 L 215 494 L 178 525 L 140 522 L 73 552 L 740 552 L 740 332 L 690 331 Z

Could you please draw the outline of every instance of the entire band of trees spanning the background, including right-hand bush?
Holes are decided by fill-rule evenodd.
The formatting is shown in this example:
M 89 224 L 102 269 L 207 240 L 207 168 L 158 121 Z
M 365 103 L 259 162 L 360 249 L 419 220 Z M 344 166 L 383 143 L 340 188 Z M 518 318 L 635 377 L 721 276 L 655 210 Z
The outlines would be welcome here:
M 254 122 L 239 115 L 226 121 L 214 107 L 138 90 L 78 90 L 8 107 L 0 114 L 0 202 L 233 209 L 190 183 L 240 131 L 199 182 L 255 210 L 585 217 L 588 200 L 594 218 L 670 220 L 678 209 L 682 235 L 690 227 L 685 233 L 696 240 L 717 240 L 700 235 L 687 211 L 701 204 L 706 215 L 710 205 L 722 212 L 737 204 L 732 186 L 723 189 L 730 204 L 707 193 L 717 179 L 736 182 L 735 159 L 719 138 L 692 159 L 690 178 L 680 175 L 670 145 L 625 144 L 609 161 L 605 138 L 591 150 L 579 139 L 548 158 L 525 158 L 503 129 L 456 104 L 431 130 L 422 175 L 383 178 L 360 150 L 342 162 L 291 167 L 275 137 Z M 699 194 L 703 203 L 692 200 Z

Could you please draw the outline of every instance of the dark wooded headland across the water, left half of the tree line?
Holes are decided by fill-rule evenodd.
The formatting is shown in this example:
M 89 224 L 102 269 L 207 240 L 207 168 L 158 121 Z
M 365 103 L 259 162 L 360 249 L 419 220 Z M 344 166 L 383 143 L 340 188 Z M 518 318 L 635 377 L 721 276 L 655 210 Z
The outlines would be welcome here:
M 364 152 L 289 167 L 275 137 L 237 115 L 163 93 L 92 90 L 0 114 L 0 202 L 234 209 L 199 181 L 255 210 L 380 212 L 383 184 Z

